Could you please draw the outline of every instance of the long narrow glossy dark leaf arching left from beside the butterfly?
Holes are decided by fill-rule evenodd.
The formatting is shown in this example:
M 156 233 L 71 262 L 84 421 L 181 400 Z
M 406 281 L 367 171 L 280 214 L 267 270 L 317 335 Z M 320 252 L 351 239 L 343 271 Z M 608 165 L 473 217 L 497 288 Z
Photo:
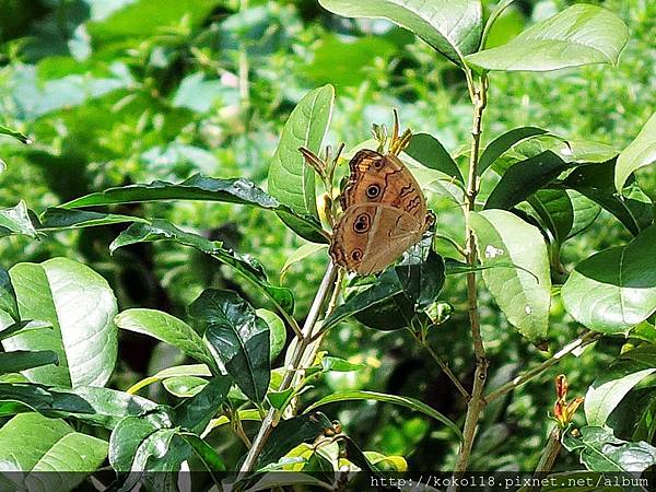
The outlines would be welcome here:
M 301 155 L 301 154 L 298 154 Z M 154 180 L 144 185 L 128 185 L 108 188 L 101 192 L 77 198 L 61 207 L 77 209 L 84 207 L 138 203 L 147 201 L 168 200 L 208 200 L 229 203 L 248 204 L 265 210 L 279 212 L 282 216 L 296 221 L 312 236 L 312 241 L 326 242 L 321 224 L 306 214 L 300 215 L 276 198 L 267 195 L 261 188 L 247 179 L 221 179 L 196 174 L 179 184 Z M 99 220 L 99 219 L 96 219 Z M 0 225 L 1 222 L 0 222 Z

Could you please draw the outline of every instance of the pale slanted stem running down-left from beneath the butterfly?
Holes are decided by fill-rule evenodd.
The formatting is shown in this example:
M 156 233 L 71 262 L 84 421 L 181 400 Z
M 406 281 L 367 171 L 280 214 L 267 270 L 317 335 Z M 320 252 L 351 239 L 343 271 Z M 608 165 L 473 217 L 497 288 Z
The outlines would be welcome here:
M 309 312 L 307 313 L 307 317 L 305 318 L 305 324 L 303 325 L 302 335 L 303 337 L 300 339 L 295 339 L 295 344 L 290 344 L 288 348 L 288 352 L 291 351 L 291 358 L 285 360 L 290 361 L 290 364 L 286 366 L 284 376 L 282 378 L 282 383 L 280 384 L 280 390 L 284 391 L 288 389 L 292 380 L 294 379 L 294 374 L 298 371 L 301 366 L 301 361 L 305 354 L 306 349 L 308 348 L 312 336 L 315 329 L 315 326 L 319 319 L 319 314 L 321 311 L 321 306 L 330 294 L 330 291 L 336 285 L 336 277 L 337 277 L 337 267 L 330 261 L 328 268 L 326 269 L 326 273 L 324 274 L 324 279 L 319 284 L 319 289 L 315 295 L 315 298 L 309 307 Z M 288 353 L 289 355 L 289 353 Z M 246 459 L 242 465 L 242 469 L 239 470 L 239 476 L 244 476 L 245 473 L 251 471 L 257 462 L 257 458 L 262 452 L 271 431 L 278 423 L 278 410 L 274 408 L 270 408 L 269 412 L 265 417 L 262 424 L 260 425 L 259 432 L 253 442 L 253 447 L 248 450 L 246 455 Z

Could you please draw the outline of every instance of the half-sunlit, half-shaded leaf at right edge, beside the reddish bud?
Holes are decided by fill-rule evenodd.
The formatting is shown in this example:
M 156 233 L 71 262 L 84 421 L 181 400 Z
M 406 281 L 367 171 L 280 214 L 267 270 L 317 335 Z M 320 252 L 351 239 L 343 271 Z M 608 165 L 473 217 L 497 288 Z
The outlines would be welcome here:
M 624 396 L 641 380 L 654 373 L 633 361 L 620 362 L 604 372 L 585 395 L 585 417 L 588 425 L 604 425 Z

